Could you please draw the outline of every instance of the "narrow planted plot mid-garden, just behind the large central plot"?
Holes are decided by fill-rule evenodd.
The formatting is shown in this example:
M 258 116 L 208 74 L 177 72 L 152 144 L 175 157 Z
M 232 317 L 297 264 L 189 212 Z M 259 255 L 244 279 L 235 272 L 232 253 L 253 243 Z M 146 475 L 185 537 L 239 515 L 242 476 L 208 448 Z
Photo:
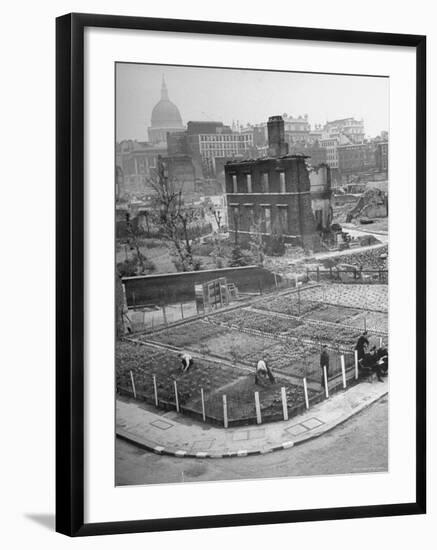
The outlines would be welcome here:
M 269 314 L 263 315 L 251 309 L 234 309 L 215 315 L 214 319 L 238 328 L 249 328 L 273 335 L 287 333 L 300 325 L 300 321 L 297 319 L 286 319 Z

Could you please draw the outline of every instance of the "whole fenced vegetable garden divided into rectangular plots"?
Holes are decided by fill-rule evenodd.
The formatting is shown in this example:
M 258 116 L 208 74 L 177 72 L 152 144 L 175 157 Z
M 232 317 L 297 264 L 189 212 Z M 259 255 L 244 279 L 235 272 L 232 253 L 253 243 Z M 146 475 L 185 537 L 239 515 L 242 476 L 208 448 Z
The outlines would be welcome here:
M 277 281 L 275 291 L 204 315 L 185 317 L 182 309 L 173 320 L 166 307 L 161 324 L 117 343 L 117 391 L 229 427 L 292 417 L 356 383 L 354 347 L 363 330 L 371 345 L 387 346 L 387 285 L 297 282 Z M 182 351 L 194 358 L 185 373 Z M 260 359 L 273 384 L 255 384 Z

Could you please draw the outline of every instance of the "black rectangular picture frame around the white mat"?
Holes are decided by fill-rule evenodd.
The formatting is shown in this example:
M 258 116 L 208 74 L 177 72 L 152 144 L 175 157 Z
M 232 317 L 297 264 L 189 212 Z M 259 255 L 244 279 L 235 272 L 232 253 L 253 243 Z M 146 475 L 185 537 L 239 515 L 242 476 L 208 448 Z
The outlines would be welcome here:
M 84 522 L 84 29 L 106 27 L 416 50 L 416 499 L 399 504 Z M 425 36 L 95 14 L 56 20 L 56 530 L 69 536 L 423 514 L 426 511 Z

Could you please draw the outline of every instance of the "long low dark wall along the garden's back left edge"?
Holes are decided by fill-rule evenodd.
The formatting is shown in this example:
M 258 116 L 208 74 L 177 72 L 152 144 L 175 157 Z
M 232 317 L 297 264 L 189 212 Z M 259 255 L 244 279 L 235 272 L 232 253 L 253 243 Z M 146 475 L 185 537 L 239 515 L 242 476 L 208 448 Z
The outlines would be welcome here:
M 226 277 L 228 283 L 234 283 L 239 292 L 258 292 L 260 288 L 269 290 L 275 286 L 273 273 L 258 266 L 124 277 L 122 282 L 126 289 L 127 305 L 132 307 L 194 300 L 196 283 L 218 277 Z M 278 282 L 280 279 L 277 276 Z

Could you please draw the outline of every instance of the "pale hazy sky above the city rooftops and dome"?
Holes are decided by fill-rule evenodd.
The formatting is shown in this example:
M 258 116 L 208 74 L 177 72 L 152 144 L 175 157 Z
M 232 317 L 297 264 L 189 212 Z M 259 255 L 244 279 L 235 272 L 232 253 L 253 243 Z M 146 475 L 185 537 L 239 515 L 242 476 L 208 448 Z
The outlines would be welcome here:
M 365 132 L 389 129 L 388 78 L 119 63 L 116 73 L 117 141 L 147 141 L 152 109 L 164 75 L 169 99 L 189 120 L 239 121 L 308 114 L 311 125 L 363 118 Z

